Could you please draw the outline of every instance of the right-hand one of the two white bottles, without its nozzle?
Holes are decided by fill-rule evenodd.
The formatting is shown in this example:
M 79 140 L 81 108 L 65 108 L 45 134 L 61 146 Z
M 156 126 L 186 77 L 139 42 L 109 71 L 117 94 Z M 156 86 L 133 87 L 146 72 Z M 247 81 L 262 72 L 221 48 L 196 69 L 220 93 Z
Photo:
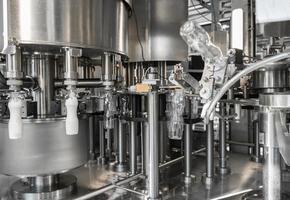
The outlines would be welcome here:
M 79 120 L 77 115 L 78 99 L 76 92 L 70 91 L 65 101 L 66 106 L 66 134 L 77 135 L 79 133 Z

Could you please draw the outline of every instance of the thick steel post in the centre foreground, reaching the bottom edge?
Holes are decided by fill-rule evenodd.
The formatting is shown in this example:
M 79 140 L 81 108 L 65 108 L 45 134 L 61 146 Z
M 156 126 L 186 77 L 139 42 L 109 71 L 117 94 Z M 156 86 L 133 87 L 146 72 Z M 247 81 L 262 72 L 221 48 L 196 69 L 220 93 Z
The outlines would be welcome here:
M 159 166 L 158 166 L 158 93 L 148 93 L 148 124 L 149 124 L 149 162 L 148 162 L 148 197 L 159 197 Z

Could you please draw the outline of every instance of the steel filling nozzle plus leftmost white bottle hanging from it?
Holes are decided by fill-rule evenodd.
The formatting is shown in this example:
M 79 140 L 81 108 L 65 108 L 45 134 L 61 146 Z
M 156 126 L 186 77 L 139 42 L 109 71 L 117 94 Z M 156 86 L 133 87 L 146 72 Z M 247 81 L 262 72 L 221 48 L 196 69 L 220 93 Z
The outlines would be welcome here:
M 6 72 L 9 86 L 8 108 L 10 119 L 8 123 L 9 139 L 20 139 L 23 134 L 22 105 L 23 97 L 20 93 L 23 84 L 23 72 L 21 66 L 21 49 L 16 45 L 7 46 L 2 53 L 6 54 Z

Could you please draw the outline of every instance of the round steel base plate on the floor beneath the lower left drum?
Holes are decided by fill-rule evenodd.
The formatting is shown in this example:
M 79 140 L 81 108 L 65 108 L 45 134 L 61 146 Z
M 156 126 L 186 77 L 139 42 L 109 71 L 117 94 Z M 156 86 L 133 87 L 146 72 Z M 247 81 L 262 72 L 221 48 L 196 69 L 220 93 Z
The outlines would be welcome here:
M 74 194 L 77 189 L 77 178 L 72 175 L 60 175 L 57 184 L 51 187 L 37 189 L 23 180 L 18 180 L 11 186 L 13 199 L 64 199 Z

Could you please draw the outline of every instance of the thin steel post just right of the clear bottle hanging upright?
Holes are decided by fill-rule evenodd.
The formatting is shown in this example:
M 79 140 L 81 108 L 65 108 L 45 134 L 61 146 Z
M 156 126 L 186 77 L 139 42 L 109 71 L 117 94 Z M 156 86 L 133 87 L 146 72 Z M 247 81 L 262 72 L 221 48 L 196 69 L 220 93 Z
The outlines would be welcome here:
M 191 183 L 191 155 L 192 155 L 192 127 L 191 124 L 185 125 L 185 135 L 184 135 L 184 174 L 185 174 L 185 183 Z

